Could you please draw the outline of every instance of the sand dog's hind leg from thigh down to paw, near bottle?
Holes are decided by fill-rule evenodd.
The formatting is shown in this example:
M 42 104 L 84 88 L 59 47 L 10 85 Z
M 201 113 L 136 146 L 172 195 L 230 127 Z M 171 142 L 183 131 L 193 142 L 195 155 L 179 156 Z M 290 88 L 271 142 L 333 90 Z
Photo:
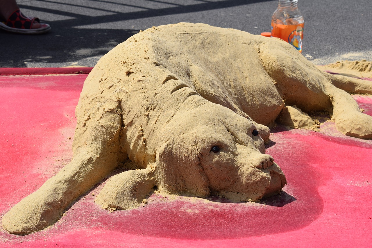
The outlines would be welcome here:
M 263 39 L 263 38 L 262 38 Z M 347 136 L 372 139 L 372 117 L 360 112 L 356 101 L 291 45 L 279 39 L 265 39 L 258 48 L 263 67 L 277 83 L 287 105 L 303 111 L 331 110 L 337 129 Z M 275 43 L 270 45 L 272 42 Z M 273 51 L 272 46 L 282 49 Z

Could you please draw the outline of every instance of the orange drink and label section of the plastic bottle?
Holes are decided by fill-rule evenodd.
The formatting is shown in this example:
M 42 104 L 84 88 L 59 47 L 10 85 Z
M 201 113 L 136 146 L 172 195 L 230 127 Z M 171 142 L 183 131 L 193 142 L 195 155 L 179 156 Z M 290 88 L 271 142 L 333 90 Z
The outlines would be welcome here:
M 302 53 L 304 39 L 304 23 L 298 25 L 283 25 L 271 23 L 271 37 L 278 37 L 294 46 Z

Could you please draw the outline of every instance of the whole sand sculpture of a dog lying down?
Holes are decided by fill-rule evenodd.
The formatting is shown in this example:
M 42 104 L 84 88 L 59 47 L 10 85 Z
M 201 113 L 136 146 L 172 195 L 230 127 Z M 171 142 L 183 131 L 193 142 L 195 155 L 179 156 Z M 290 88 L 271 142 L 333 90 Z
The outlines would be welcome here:
M 330 111 L 340 132 L 372 139 L 372 117 L 333 86 L 340 80 L 276 38 L 192 23 L 141 31 L 87 77 L 71 162 L 10 209 L 3 226 L 26 234 L 52 225 L 123 164 L 97 204 L 132 209 L 154 188 L 233 201 L 276 194 L 286 178 L 264 141 L 283 109 L 280 118 L 309 128 L 316 124 L 304 112 Z M 372 92 L 350 80 L 355 91 Z

